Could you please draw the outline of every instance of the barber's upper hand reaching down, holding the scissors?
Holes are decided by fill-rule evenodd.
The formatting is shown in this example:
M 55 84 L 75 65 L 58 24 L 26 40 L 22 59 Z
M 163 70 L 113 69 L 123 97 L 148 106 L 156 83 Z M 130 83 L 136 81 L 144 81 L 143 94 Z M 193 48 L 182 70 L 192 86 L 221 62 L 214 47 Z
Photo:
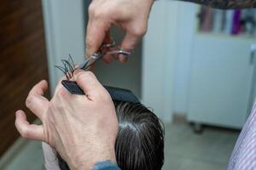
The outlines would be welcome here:
M 148 27 L 148 15 L 154 0 L 93 0 L 89 7 L 89 22 L 86 33 L 86 55 L 94 54 L 102 42 L 111 42 L 110 26 L 125 30 L 120 48 L 132 51 Z M 104 58 L 111 62 L 111 57 Z M 118 56 L 125 62 L 124 55 Z

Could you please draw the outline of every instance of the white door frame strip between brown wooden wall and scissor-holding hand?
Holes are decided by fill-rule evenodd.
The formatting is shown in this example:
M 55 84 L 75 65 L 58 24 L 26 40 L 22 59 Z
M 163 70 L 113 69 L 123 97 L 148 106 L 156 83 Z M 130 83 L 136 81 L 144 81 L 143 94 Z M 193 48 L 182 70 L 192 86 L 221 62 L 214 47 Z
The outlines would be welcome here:
M 61 59 L 73 56 L 76 63 L 84 59 L 83 0 L 43 0 L 44 27 L 47 42 L 50 91 L 63 74 L 55 68 Z

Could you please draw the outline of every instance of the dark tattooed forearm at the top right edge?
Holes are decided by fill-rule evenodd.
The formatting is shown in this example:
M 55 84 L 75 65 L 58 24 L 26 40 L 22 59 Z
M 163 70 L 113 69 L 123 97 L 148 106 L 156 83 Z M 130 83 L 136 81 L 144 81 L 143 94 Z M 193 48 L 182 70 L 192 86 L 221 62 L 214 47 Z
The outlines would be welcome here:
M 184 2 L 198 3 L 212 8 L 255 8 L 256 0 L 179 0 Z

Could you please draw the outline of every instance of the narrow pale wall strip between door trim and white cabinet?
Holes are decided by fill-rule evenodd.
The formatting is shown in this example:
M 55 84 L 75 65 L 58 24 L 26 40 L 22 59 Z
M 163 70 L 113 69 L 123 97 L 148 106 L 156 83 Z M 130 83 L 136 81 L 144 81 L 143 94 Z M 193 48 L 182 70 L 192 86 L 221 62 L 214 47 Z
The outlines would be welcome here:
M 190 69 L 198 6 L 179 2 L 177 8 L 177 62 L 175 64 L 174 109 L 186 114 L 189 103 Z

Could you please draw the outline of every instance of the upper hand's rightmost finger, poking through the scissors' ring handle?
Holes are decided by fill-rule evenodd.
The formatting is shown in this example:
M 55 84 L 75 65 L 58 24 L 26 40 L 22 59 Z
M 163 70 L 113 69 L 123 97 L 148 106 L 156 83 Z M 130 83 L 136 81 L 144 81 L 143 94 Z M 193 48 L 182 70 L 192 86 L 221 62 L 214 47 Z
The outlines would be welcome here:
M 143 34 L 134 34 L 131 32 L 126 32 L 123 42 L 120 45 L 120 48 L 131 52 L 136 47 L 137 42 L 140 41 Z M 122 63 L 127 62 L 128 56 L 124 54 L 119 54 L 119 61 Z

